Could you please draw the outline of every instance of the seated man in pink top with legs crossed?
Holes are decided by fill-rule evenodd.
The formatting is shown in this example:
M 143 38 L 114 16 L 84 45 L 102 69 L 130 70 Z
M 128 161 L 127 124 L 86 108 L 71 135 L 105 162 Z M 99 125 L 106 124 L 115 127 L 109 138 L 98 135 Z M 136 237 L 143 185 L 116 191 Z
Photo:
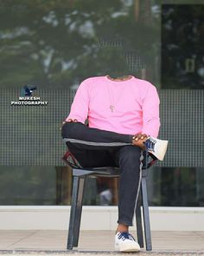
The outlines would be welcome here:
M 141 181 L 141 152 L 146 149 L 159 160 L 166 152 L 167 141 L 156 139 L 159 127 L 155 86 L 133 75 L 104 75 L 80 83 L 61 128 L 67 148 L 82 167 L 119 167 L 115 249 L 120 252 L 140 250 L 129 226 Z

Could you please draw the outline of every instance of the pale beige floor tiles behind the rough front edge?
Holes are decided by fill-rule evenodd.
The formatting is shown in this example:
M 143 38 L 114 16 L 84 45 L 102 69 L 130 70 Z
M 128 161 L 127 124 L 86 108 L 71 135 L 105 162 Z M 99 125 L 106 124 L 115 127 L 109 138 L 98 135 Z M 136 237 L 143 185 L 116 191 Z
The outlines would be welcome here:
M 152 232 L 152 244 L 153 253 L 156 251 L 188 253 L 198 251 L 201 255 L 201 251 L 204 252 L 204 232 Z M 0 253 L 9 249 L 29 250 L 30 252 L 35 250 L 65 251 L 66 246 L 67 231 L 0 231 Z M 113 251 L 114 231 L 80 232 L 78 250 Z

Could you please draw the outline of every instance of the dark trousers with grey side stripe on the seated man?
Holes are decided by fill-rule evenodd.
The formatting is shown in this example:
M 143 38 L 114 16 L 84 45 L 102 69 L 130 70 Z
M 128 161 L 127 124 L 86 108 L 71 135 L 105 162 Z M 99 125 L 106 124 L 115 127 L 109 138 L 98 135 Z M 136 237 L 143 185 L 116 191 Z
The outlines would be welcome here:
M 132 226 L 141 181 L 141 149 L 131 145 L 133 135 L 88 128 L 67 122 L 61 128 L 67 148 L 82 167 L 119 167 L 118 223 Z

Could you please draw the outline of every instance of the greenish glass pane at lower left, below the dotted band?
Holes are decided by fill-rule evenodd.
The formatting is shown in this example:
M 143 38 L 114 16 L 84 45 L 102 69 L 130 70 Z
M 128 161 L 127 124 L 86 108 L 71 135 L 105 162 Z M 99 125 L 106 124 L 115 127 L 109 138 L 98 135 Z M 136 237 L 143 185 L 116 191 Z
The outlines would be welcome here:
M 54 167 L 0 167 L 0 205 L 55 205 Z

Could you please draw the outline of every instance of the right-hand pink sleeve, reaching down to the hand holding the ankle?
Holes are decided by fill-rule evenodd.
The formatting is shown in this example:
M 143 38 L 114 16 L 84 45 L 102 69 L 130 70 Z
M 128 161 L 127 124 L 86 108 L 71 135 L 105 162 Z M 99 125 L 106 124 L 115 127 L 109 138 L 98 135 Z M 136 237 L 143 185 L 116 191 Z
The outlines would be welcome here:
M 143 134 L 158 136 L 160 128 L 159 103 L 156 88 L 150 84 L 143 99 Z

